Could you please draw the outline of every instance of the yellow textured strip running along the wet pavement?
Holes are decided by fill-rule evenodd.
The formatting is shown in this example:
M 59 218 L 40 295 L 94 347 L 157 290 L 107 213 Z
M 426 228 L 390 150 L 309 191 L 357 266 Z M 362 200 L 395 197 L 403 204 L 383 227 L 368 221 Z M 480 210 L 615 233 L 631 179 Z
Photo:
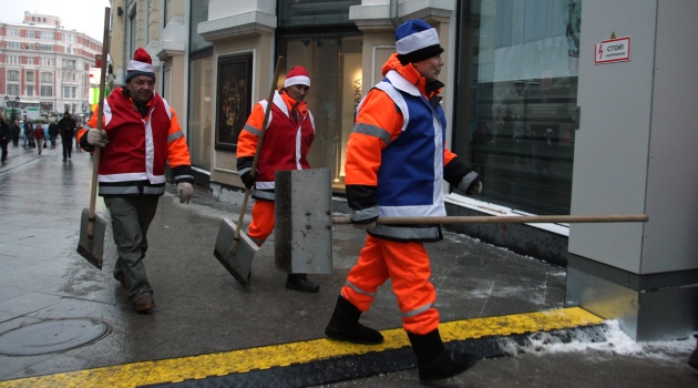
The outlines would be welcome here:
M 444 341 L 486 336 L 506 336 L 555 330 L 601 324 L 603 319 L 582 308 L 572 307 L 442 323 L 439 331 Z M 0 381 L 6 387 L 136 387 L 147 384 L 174 382 L 225 376 L 255 369 L 284 367 L 331 357 L 361 355 L 409 346 L 402 328 L 381 331 L 386 341 L 380 345 L 355 345 L 327 338 L 312 339 L 258 348 L 170 358 L 155 361 L 101 367 L 55 375 Z

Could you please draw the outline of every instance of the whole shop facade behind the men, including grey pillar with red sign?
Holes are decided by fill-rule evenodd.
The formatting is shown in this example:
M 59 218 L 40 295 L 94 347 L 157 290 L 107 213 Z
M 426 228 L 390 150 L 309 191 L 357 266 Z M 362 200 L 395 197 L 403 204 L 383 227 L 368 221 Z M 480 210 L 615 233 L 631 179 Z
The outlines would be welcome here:
M 308 159 L 314 167 L 331 170 L 333 191 L 341 195 L 353 112 L 382 79 L 396 27 L 413 18 L 429 22 L 446 49 L 440 80 L 448 144 L 484 177 L 478 198 L 446 195 L 450 214 L 651 211 L 647 224 L 456 229 L 567 267 L 568 303 L 620 319 L 634 338 L 678 338 L 696 328 L 698 243 L 685 233 L 661 232 L 698 226 L 690 200 L 698 183 L 686 178 L 698 162 L 687 149 L 698 142 L 687 114 L 698 81 L 682 65 L 698 59 L 689 38 L 698 33 L 688 18 L 698 12 L 691 0 L 114 0 L 112 6 L 116 80 L 124 79 L 137 47 L 151 53 L 161 93 L 186 123 L 197 181 L 220 201 L 232 201 L 243 187 L 237 135 L 252 105 L 266 98 L 279 57 L 284 72 L 300 64 L 310 74 L 307 101 L 318 133 Z M 616 39 L 627 47 L 613 43 Z M 604 49 L 618 52 L 603 61 Z M 668 71 L 658 74 L 655 63 Z M 675 177 L 670 193 L 660 188 L 668 187 L 668 176 Z

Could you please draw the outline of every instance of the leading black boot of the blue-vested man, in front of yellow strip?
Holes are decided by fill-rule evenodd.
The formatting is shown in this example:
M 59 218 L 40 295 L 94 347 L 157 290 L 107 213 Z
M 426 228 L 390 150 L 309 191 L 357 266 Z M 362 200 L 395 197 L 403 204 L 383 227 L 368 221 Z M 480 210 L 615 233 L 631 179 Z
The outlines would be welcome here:
M 439 329 L 424 335 L 408 333 L 414 355 L 419 379 L 434 381 L 460 375 L 470 369 L 480 357 L 469 353 L 453 353 L 441 341 Z

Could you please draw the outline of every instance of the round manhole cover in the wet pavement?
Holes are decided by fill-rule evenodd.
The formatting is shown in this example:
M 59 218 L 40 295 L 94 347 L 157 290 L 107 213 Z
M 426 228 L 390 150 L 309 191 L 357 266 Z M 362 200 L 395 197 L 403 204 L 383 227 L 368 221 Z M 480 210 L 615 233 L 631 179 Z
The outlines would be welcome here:
M 110 328 L 95 319 L 57 319 L 0 335 L 0 354 L 35 356 L 68 350 L 104 337 Z

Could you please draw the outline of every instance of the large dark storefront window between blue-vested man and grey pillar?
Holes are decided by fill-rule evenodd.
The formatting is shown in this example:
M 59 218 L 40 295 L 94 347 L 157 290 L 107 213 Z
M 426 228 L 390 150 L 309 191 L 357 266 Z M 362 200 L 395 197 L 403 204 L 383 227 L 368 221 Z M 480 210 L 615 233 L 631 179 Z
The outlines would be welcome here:
M 483 201 L 569 214 L 582 0 L 473 0 L 459 18 L 453 149 Z

